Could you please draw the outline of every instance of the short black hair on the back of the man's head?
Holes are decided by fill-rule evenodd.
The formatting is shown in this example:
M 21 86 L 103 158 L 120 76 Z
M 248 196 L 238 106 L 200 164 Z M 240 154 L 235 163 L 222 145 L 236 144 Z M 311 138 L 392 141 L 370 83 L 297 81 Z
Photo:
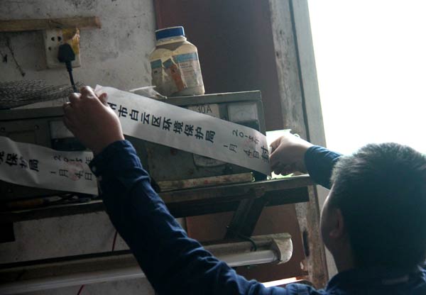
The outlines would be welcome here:
M 342 210 L 356 267 L 414 267 L 426 253 L 426 157 L 397 143 L 342 157 L 330 206 Z

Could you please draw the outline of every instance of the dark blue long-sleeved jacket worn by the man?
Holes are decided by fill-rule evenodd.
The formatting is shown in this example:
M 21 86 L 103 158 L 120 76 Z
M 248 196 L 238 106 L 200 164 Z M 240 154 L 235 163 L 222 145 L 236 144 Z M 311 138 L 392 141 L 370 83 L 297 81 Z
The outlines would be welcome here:
M 332 167 L 340 156 L 324 147 L 310 147 L 305 164 L 312 179 L 329 188 Z M 324 290 L 301 284 L 266 288 L 239 276 L 187 237 L 151 188 L 148 173 L 128 141 L 109 145 L 90 167 L 99 179 L 112 223 L 159 294 L 426 295 L 426 272 L 420 268 L 410 272 L 380 267 L 352 269 L 334 276 Z

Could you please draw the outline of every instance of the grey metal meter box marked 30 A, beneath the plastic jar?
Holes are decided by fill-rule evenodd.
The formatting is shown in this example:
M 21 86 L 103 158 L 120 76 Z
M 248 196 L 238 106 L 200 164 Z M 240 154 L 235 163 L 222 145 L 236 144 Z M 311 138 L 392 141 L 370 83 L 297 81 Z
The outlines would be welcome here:
M 170 97 L 163 101 L 266 133 L 261 91 Z M 146 143 L 146 150 L 149 172 L 155 182 L 251 172 L 244 167 L 155 143 Z M 255 178 L 265 179 L 265 176 L 255 173 Z

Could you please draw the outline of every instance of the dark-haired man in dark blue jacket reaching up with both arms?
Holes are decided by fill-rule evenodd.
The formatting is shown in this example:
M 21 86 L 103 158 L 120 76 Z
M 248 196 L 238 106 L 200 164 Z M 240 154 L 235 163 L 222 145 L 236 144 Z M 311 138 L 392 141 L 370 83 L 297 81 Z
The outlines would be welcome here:
M 159 294 L 426 294 L 420 267 L 426 250 L 426 159 L 420 153 L 384 144 L 342 157 L 292 135 L 275 141 L 275 172 L 307 169 L 324 187 L 333 184 L 321 230 L 339 274 L 320 291 L 300 284 L 265 288 L 187 237 L 151 188 L 106 99 L 84 87 L 64 105 L 64 121 L 93 150 L 90 167 L 107 213 Z

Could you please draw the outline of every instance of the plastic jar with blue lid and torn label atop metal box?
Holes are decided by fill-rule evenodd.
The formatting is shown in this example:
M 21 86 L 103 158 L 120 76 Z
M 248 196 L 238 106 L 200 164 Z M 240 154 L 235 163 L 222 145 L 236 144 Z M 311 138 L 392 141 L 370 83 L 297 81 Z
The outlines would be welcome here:
M 150 55 L 155 90 L 164 96 L 204 94 L 197 48 L 187 41 L 183 27 L 155 30 L 155 38 Z

